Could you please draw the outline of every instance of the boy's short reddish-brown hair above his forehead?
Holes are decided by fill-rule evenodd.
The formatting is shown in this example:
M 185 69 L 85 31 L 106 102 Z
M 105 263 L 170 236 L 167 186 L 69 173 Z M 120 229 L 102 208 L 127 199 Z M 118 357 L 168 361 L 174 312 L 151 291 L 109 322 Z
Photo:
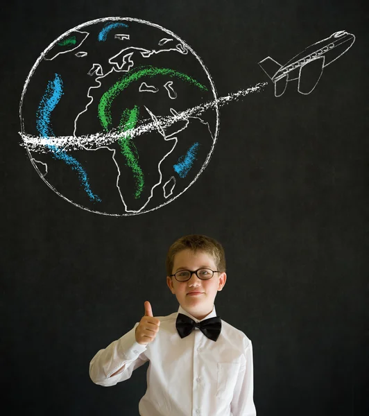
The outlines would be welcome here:
M 201 234 L 190 234 L 176 240 L 166 254 L 166 275 L 170 276 L 173 271 L 174 256 L 182 250 L 192 250 L 205 252 L 214 259 L 216 268 L 220 272 L 225 272 L 225 253 L 221 243 L 211 237 Z

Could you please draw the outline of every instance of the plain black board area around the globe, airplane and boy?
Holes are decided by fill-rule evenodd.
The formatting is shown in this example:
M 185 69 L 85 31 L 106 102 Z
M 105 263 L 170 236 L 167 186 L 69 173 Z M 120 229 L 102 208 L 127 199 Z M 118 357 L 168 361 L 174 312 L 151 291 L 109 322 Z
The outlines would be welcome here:
M 350 51 L 308 96 L 273 84 L 221 108 L 214 155 L 169 205 L 92 214 L 40 180 L 19 146 L 19 100 L 40 53 L 101 17 L 160 24 L 203 59 L 219 96 L 270 81 L 336 31 Z M 129 331 L 149 300 L 178 302 L 164 260 L 183 234 L 223 243 L 223 320 L 252 340 L 258 415 L 368 415 L 368 6 L 365 1 L 19 1 L 1 6 L 2 410 L 138 415 L 146 368 L 112 388 L 89 361 Z M 232 69 L 232 71 L 230 71 Z M 209 203 L 209 200 L 212 202 Z M 4 413 L 5 414 L 5 413 Z

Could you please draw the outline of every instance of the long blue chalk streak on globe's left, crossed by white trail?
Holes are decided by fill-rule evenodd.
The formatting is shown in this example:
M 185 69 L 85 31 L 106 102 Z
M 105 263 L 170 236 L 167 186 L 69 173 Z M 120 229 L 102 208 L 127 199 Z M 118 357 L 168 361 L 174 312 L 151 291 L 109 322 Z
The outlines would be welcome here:
M 64 94 L 62 87 L 62 78 L 58 73 L 55 73 L 54 80 L 49 81 L 47 84 L 46 91 L 44 96 L 41 98 L 36 113 L 37 131 L 41 137 L 55 137 L 51 128 L 50 116 L 56 105 L 58 105 L 60 98 L 62 98 L 62 94 Z M 47 147 L 49 147 L 49 149 L 52 151 L 54 158 L 63 160 L 66 164 L 71 166 L 74 171 L 78 172 L 80 182 L 82 182 L 83 187 L 89 196 L 89 199 L 101 202 L 101 199 L 94 195 L 94 193 L 92 193 L 91 189 L 89 188 L 87 173 L 81 164 L 76 159 L 74 159 L 74 157 L 68 155 L 65 150 L 60 150 L 57 146 L 47 145 Z

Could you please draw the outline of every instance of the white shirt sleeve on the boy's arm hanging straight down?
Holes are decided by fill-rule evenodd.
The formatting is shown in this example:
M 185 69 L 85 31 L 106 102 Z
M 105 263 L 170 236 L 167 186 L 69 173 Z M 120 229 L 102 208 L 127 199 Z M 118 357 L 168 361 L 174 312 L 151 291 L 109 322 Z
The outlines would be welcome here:
M 254 404 L 254 367 L 252 363 L 252 343 L 248 340 L 245 349 L 246 363 L 240 367 L 234 388 L 231 411 L 233 416 L 256 416 Z

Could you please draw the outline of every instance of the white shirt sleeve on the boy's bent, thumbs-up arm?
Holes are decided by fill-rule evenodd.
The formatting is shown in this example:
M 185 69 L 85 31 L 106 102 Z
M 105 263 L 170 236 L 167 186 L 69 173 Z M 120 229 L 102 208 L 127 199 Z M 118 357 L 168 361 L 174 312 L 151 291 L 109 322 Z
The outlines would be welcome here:
M 92 358 L 89 363 L 89 377 L 95 384 L 109 387 L 119 381 L 128 380 L 136 368 L 148 361 L 144 354 L 146 345 L 136 342 L 135 331 L 138 324 L 139 322 L 136 322 L 135 327 L 105 349 L 98 351 Z M 118 370 L 119 373 L 112 376 Z

